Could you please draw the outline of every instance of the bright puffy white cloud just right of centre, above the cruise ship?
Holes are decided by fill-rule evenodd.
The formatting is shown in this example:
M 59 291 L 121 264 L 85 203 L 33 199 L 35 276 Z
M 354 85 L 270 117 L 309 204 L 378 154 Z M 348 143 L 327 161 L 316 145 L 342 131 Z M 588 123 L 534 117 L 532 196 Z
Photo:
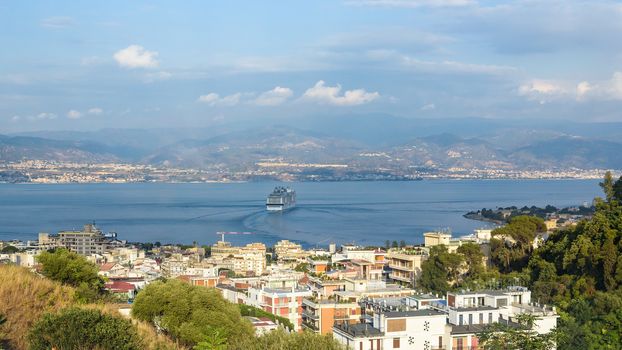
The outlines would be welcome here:
M 347 90 L 341 93 L 341 85 L 326 86 L 323 80 L 318 81 L 302 95 L 303 100 L 315 101 L 336 106 L 355 106 L 371 102 L 378 97 L 378 92 L 367 92 L 363 89 Z

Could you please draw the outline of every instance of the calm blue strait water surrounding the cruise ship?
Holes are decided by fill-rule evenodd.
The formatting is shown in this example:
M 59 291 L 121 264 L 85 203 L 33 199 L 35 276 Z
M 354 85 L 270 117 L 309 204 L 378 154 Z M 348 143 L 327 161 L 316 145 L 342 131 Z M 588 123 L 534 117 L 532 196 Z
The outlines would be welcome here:
M 592 180 L 461 180 L 287 184 L 298 206 L 268 214 L 275 183 L 242 184 L 0 184 L 0 240 L 35 239 L 95 221 L 120 239 L 211 244 L 217 231 L 234 243 L 290 239 L 307 246 L 389 240 L 422 241 L 424 231 L 471 233 L 486 224 L 462 217 L 497 206 L 580 205 L 600 195 Z

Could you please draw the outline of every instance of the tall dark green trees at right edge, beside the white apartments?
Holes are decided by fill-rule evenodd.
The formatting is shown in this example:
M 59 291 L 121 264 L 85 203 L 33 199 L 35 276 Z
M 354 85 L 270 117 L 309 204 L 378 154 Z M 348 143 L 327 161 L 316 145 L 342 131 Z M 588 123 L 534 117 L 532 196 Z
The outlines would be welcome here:
M 534 296 L 563 311 L 560 349 L 622 344 L 622 178 L 608 173 L 601 186 L 593 218 L 552 234 L 529 261 Z

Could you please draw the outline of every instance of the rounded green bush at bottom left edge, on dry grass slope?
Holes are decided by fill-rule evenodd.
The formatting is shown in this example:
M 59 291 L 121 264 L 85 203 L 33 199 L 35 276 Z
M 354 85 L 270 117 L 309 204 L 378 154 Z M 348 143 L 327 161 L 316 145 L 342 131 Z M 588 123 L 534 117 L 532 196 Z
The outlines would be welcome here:
M 28 335 L 30 349 L 142 349 L 130 321 L 95 309 L 69 308 L 44 315 Z

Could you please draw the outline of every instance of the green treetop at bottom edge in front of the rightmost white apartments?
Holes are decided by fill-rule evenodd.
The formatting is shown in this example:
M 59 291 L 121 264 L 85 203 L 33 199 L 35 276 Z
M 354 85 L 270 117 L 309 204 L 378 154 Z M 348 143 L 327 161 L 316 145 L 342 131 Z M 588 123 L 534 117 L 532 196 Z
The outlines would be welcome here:
M 557 333 L 538 334 L 533 330 L 536 316 L 520 314 L 516 317 L 518 327 L 495 322 L 488 324 L 477 334 L 479 344 L 486 350 L 550 350 L 556 345 Z

